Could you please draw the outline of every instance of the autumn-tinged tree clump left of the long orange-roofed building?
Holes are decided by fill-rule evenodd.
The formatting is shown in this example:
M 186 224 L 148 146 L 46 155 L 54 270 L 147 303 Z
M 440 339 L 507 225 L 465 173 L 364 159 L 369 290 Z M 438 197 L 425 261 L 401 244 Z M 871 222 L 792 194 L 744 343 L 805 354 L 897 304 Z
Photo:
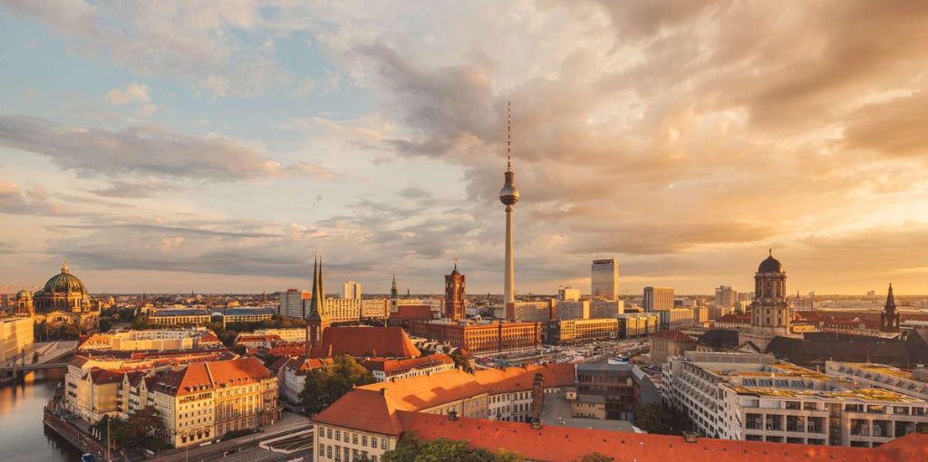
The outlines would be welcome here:
M 374 383 L 374 376 L 349 354 L 336 356 L 331 365 L 306 374 L 306 385 L 300 399 L 310 415 L 322 412 L 355 386 Z

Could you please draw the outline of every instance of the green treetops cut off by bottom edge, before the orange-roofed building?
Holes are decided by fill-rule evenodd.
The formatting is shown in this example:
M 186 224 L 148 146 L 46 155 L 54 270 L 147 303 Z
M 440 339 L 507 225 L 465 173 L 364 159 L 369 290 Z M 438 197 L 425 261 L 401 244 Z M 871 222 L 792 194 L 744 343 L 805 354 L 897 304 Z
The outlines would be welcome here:
M 415 435 L 406 436 L 396 444 L 396 449 L 383 455 L 383 462 L 444 462 L 445 460 L 467 460 L 473 462 L 522 462 L 523 457 L 509 451 L 491 453 L 475 449 L 463 441 L 442 438 L 434 441 L 419 440 Z

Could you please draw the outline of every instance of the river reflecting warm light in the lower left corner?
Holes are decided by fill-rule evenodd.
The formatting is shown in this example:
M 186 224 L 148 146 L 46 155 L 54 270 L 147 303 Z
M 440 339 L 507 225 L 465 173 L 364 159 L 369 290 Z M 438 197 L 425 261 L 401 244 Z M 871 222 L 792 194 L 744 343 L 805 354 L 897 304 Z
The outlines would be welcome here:
M 42 408 L 66 369 L 28 374 L 25 383 L 0 387 L 0 461 L 72 462 L 81 452 L 42 424 Z

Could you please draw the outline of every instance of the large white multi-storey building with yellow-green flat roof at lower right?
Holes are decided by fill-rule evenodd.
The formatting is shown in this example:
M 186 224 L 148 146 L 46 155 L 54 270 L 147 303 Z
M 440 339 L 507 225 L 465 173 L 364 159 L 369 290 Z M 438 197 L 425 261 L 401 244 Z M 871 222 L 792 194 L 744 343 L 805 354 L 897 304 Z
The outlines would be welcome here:
M 928 422 L 922 399 L 768 354 L 687 352 L 664 366 L 664 387 L 699 434 L 714 438 L 876 447 Z

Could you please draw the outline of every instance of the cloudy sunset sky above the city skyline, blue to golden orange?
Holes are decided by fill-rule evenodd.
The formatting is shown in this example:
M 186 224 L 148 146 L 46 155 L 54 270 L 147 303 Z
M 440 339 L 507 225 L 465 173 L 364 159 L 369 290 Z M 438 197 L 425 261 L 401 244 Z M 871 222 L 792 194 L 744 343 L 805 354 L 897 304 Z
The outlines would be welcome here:
M 0 0 L 0 289 L 928 293 L 928 2 Z

